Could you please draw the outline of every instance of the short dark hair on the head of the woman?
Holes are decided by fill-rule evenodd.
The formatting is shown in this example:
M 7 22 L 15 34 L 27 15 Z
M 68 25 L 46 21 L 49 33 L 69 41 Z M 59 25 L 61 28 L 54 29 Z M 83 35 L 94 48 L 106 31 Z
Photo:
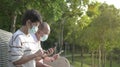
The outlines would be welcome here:
M 35 22 L 40 22 L 42 23 L 42 17 L 41 15 L 36 11 L 36 10 L 27 10 L 24 14 L 23 14 L 23 18 L 22 18 L 22 25 L 26 25 L 26 21 L 30 20 L 32 23 Z

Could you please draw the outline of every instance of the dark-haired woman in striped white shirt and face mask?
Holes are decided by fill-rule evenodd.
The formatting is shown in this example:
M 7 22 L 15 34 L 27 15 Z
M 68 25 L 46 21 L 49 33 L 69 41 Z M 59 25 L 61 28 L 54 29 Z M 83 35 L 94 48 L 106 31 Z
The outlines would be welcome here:
M 42 56 L 41 50 L 35 50 L 33 37 L 41 23 L 41 16 L 36 10 L 27 10 L 22 19 L 22 26 L 9 42 L 9 67 L 36 67 L 35 58 Z

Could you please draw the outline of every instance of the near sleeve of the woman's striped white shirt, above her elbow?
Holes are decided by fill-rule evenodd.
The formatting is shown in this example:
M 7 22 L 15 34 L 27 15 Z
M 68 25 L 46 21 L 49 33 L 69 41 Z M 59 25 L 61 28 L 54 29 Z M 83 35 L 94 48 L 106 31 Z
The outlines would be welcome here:
M 23 47 L 21 45 L 21 39 L 18 36 L 15 40 L 13 38 L 9 42 L 9 47 L 10 47 L 10 60 L 12 62 L 15 62 L 19 60 L 23 56 Z

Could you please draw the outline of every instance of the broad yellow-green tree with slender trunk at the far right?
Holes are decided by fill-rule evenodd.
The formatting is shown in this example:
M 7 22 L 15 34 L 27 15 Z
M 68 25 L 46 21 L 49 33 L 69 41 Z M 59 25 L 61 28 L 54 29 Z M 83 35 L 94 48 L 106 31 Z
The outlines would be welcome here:
M 103 3 L 99 7 L 100 15 L 84 29 L 84 35 L 81 37 L 83 43 L 88 43 L 94 50 L 99 50 L 99 66 L 105 67 L 105 55 L 107 46 L 115 46 L 119 44 L 119 10 L 114 6 L 108 6 Z M 111 47 L 112 49 L 113 47 Z M 102 66 L 101 66 L 102 64 Z

